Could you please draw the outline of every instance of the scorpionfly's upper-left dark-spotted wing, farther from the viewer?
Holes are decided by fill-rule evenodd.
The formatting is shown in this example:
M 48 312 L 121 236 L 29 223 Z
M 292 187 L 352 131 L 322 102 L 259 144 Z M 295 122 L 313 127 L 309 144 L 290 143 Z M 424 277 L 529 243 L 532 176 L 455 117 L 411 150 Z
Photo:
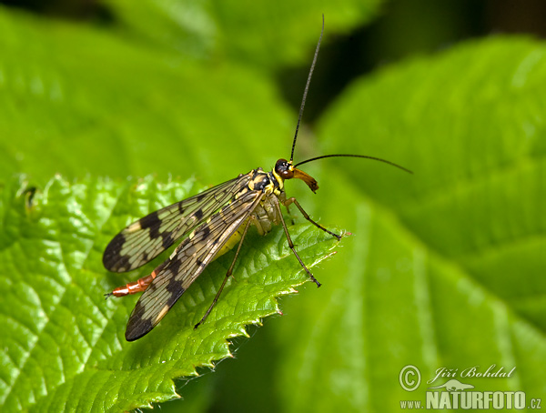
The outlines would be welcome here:
M 138 219 L 110 241 L 103 256 L 104 266 L 110 271 L 125 272 L 145 265 L 207 221 L 248 181 L 248 174 L 238 176 Z

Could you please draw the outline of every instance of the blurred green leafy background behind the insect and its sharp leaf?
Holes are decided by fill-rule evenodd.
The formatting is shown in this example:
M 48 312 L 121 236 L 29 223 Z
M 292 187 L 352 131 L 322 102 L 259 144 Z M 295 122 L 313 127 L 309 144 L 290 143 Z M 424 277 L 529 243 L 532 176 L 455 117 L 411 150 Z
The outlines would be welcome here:
M 438 368 L 546 396 L 546 3 L 1 2 L 0 179 L 196 176 L 288 157 L 336 257 L 162 411 L 398 411 Z M 406 392 L 399 372 L 420 368 Z M 435 385 L 443 381 L 435 382 Z M 39 401 L 38 401 L 39 402 Z

